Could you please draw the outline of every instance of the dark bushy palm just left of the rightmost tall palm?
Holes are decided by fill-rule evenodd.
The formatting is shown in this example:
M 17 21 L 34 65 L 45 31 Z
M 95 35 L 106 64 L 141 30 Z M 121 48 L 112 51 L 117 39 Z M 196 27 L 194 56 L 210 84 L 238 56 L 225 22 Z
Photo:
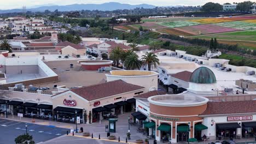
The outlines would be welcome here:
M 125 69 L 134 70 L 134 69 L 141 69 L 142 62 L 139 60 L 138 55 L 133 53 L 130 56 L 127 56 L 124 62 Z

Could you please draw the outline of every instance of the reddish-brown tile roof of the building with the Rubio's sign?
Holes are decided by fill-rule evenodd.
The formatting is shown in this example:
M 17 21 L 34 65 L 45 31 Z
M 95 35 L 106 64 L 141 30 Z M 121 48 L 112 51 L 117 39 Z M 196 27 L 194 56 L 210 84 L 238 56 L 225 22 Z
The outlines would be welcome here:
M 122 80 L 116 80 L 82 88 L 74 88 L 70 91 L 80 95 L 80 97 L 83 97 L 86 100 L 91 101 L 100 98 L 110 97 L 112 95 L 135 91 L 142 88 L 144 87 L 132 85 Z

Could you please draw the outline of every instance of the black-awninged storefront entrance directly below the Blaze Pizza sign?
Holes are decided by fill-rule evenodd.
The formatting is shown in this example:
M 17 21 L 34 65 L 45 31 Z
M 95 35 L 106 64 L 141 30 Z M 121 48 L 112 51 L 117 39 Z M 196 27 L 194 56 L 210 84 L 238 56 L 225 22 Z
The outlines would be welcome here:
M 238 123 L 216 124 L 216 135 L 218 136 L 218 140 L 235 138 L 237 128 L 241 128 Z

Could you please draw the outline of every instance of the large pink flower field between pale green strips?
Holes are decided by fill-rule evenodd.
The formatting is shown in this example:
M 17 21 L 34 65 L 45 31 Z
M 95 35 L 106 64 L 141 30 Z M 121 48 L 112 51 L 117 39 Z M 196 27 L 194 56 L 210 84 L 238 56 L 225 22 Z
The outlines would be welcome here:
M 193 35 L 224 33 L 224 32 L 232 32 L 232 31 L 240 30 L 236 28 L 222 27 L 217 25 L 197 25 L 197 26 L 180 27 L 180 28 L 174 28 L 174 29 L 177 29 L 178 31 L 190 33 Z

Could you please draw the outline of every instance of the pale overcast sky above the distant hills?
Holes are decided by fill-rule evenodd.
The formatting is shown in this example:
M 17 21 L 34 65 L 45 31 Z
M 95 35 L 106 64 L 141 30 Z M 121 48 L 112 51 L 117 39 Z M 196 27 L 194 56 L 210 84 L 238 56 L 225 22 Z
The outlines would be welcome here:
M 95 4 L 101 4 L 106 2 L 119 2 L 119 3 L 128 3 L 128 4 L 153 4 L 156 6 L 170 6 L 170 5 L 202 5 L 207 2 L 217 2 L 220 4 L 229 2 L 243 2 L 245 0 L 97 0 L 97 1 L 86 1 L 86 0 L 0 0 L 0 9 L 16 9 L 16 8 L 22 8 L 23 5 L 25 5 L 27 8 L 32 7 L 34 5 L 44 5 L 44 4 L 57 4 L 57 5 L 68 5 L 68 4 L 88 4 L 88 3 L 95 3 Z M 255 0 L 253 0 L 255 1 Z

